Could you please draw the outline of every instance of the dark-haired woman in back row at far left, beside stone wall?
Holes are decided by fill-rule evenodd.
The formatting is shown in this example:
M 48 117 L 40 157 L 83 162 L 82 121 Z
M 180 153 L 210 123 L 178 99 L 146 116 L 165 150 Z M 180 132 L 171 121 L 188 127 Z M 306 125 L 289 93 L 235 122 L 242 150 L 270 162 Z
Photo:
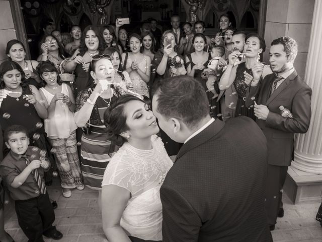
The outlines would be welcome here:
M 39 78 L 36 67 L 38 66 L 37 61 L 26 60 L 26 49 L 24 44 L 17 40 L 12 39 L 8 41 L 6 47 L 6 54 L 10 61 L 14 61 L 19 64 L 25 73 L 25 79 L 28 84 L 33 85 L 37 88 L 40 87 L 42 80 Z

